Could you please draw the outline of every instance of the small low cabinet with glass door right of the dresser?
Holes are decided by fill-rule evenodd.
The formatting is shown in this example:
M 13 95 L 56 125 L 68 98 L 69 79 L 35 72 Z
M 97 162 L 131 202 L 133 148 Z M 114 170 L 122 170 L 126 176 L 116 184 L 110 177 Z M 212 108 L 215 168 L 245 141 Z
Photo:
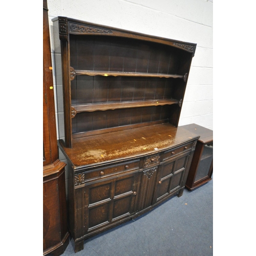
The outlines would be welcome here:
M 195 123 L 182 127 L 200 135 L 185 185 L 188 190 L 194 190 L 211 180 L 214 161 L 213 131 Z

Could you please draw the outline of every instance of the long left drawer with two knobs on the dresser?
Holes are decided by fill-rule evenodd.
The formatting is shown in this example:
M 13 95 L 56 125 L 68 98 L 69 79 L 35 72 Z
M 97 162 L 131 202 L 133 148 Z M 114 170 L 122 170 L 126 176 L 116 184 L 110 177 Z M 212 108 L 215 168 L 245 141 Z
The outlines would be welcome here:
M 140 160 L 136 160 L 133 162 L 125 162 L 123 164 L 111 166 L 108 168 L 97 169 L 90 173 L 84 173 L 84 180 L 94 179 L 98 177 L 105 177 L 107 175 L 119 173 L 124 170 L 137 169 L 139 168 L 139 166 L 140 166 Z

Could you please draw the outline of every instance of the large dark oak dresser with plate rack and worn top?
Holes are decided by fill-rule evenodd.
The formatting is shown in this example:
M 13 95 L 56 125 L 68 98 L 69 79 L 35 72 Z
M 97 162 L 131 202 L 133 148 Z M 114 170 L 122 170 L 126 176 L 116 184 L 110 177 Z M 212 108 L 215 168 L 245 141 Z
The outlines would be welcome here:
M 85 239 L 182 196 L 197 134 L 178 127 L 196 44 L 53 19 L 69 229 Z M 59 120 L 61 123 L 61 120 Z

